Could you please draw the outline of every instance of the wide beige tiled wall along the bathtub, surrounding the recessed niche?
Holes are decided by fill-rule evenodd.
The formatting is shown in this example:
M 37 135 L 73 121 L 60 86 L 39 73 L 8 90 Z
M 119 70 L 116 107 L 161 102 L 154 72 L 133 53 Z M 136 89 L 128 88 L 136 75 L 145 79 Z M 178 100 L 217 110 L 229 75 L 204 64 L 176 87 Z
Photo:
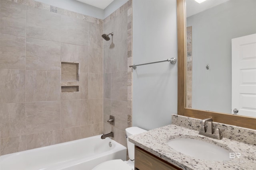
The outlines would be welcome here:
M 102 33 L 90 16 L 0 0 L 1 155 L 102 134 Z M 79 63 L 79 92 L 61 92 L 61 61 Z M 116 74 L 127 79 L 127 68 Z

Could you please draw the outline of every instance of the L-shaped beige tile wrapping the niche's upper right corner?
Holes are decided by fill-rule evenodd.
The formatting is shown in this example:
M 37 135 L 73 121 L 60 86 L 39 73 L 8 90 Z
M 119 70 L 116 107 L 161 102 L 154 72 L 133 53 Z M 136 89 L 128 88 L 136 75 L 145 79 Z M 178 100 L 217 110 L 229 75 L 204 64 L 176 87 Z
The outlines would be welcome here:
M 88 47 L 61 43 L 61 61 L 79 63 L 80 72 L 88 72 Z

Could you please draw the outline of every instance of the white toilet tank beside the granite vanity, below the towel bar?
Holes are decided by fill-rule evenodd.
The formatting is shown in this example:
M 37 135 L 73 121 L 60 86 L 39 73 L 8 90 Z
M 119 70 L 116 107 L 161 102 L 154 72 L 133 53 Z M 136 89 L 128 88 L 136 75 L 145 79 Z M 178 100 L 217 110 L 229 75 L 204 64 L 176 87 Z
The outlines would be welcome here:
M 128 155 L 130 160 L 134 160 L 134 144 L 128 141 L 128 137 L 131 135 L 136 135 L 142 132 L 146 132 L 146 130 L 141 129 L 139 127 L 128 127 L 125 129 L 127 135 L 127 148 L 128 148 Z

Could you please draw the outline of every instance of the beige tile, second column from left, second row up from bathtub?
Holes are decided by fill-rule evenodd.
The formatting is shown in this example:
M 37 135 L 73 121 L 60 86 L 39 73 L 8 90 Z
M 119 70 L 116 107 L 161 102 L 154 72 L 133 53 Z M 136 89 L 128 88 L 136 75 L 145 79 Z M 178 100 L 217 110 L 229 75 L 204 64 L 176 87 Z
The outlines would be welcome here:
M 60 129 L 60 101 L 26 103 L 27 134 Z

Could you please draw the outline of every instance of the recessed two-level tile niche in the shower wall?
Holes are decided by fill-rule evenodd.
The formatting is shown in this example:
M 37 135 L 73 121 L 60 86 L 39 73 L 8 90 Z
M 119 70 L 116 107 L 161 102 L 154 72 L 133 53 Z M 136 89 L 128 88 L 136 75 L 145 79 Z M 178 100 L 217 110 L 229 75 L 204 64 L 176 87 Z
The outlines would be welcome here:
M 79 63 L 61 62 L 61 92 L 79 92 Z

